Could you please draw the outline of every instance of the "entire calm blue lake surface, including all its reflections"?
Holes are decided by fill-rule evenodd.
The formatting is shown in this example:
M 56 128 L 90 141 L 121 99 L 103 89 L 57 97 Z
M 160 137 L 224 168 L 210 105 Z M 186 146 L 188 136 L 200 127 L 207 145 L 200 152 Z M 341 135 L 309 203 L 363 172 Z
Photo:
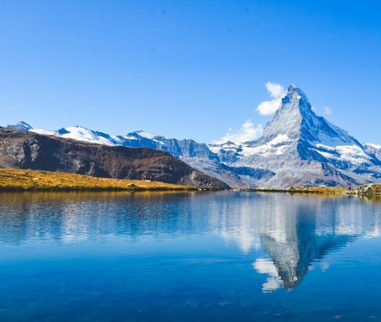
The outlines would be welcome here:
M 381 321 L 381 202 L 0 194 L 0 321 Z

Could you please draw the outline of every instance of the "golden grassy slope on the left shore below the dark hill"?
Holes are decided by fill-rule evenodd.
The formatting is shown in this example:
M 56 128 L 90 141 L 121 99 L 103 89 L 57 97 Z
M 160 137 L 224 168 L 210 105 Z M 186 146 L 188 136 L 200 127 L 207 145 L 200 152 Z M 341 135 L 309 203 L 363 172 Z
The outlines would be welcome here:
M 1 190 L 184 191 L 198 189 L 191 186 L 163 182 L 96 178 L 62 172 L 0 169 L 0 191 Z

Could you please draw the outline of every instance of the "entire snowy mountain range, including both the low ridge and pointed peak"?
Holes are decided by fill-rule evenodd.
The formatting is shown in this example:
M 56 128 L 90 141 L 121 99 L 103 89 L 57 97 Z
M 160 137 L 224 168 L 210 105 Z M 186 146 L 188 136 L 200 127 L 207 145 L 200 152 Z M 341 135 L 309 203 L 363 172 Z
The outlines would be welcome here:
M 9 128 L 108 146 L 146 147 L 168 152 L 192 168 L 233 188 L 343 186 L 381 182 L 381 146 L 362 144 L 313 111 L 305 93 L 290 85 L 263 135 L 243 143 L 204 144 L 143 131 L 111 136 L 81 126 Z

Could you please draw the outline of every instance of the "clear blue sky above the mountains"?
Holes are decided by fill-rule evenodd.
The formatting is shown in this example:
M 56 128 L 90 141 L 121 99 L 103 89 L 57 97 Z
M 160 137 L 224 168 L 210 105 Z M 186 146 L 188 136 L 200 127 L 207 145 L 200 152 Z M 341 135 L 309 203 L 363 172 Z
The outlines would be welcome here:
M 1 0 L 0 125 L 210 142 L 264 126 L 265 84 L 295 83 L 318 114 L 381 144 L 380 12 L 379 1 Z

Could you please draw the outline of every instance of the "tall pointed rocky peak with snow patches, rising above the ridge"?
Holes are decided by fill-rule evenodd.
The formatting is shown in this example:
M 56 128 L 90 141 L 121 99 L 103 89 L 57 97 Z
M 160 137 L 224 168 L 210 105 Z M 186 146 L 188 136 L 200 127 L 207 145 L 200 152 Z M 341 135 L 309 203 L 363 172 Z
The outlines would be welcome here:
M 265 183 L 273 188 L 351 186 L 381 180 L 377 153 L 370 153 L 369 147 L 348 132 L 317 116 L 296 85 L 288 88 L 260 139 L 211 149 L 225 164 L 274 171 L 276 175 Z

